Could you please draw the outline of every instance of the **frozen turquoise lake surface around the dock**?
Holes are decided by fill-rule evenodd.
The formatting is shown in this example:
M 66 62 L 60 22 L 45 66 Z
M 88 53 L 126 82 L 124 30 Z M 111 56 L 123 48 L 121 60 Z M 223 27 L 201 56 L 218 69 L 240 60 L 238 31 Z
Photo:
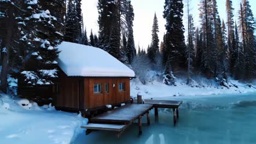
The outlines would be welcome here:
M 171 110 L 159 109 L 158 122 L 152 110 L 149 127 L 143 117 L 141 136 L 133 124 L 120 139 L 114 132 L 96 131 L 80 133 L 73 143 L 256 143 L 256 93 L 161 99 L 184 101 L 176 127 Z

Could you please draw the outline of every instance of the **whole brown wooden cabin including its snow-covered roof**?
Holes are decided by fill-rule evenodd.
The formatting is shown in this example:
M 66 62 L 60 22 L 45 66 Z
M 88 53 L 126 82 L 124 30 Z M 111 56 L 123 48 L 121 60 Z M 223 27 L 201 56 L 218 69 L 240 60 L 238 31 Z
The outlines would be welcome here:
M 60 76 L 53 87 L 53 104 L 62 110 L 96 110 L 130 100 L 135 73 L 106 51 L 63 42 L 57 62 Z

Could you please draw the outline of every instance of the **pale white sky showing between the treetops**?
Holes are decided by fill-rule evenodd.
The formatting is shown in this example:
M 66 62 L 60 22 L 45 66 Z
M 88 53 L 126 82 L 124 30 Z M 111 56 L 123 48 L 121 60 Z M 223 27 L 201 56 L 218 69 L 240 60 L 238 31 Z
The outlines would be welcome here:
M 88 35 L 92 29 L 93 33 L 98 33 L 98 0 L 82 0 L 82 11 L 84 17 L 84 24 Z M 154 13 L 158 17 L 159 25 L 159 39 L 162 41 L 165 30 L 165 19 L 162 17 L 164 11 L 165 0 L 131 0 L 133 5 L 135 20 L 133 21 L 133 34 L 136 47 L 141 46 L 143 49 L 147 49 L 151 43 L 151 31 L 153 25 Z M 184 0 L 183 2 L 187 2 Z M 199 19 L 199 2 L 200 0 L 190 0 L 190 13 L 193 14 L 195 26 L 200 26 Z M 237 19 L 238 9 L 240 8 L 241 0 L 233 0 L 233 7 L 235 8 L 235 20 Z M 256 0 L 249 0 L 253 14 L 256 15 Z M 217 0 L 218 11 L 221 19 L 226 20 L 225 0 Z M 186 5 L 185 5 L 186 7 Z M 187 11 L 184 10 L 184 15 L 187 15 Z M 256 16 L 254 16 L 256 17 Z M 186 28 L 186 16 L 183 17 L 184 27 Z

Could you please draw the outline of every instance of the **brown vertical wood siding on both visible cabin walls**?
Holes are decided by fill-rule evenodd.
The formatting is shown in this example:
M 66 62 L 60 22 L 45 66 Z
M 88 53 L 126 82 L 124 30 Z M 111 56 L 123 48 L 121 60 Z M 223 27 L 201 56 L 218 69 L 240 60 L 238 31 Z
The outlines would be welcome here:
M 55 102 L 55 105 L 59 107 L 86 110 L 120 104 L 130 100 L 130 79 L 128 77 L 83 78 L 67 77 L 64 73 L 61 73 L 60 80 L 60 94 L 57 95 Z M 83 87 L 83 89 L 79 89 L 79 81 L 80 87 Z M 94 93 L 94 84 L 96 83 L 101 84 L 102 93 Z M 105 83 L 109 83 L 109 93 L 105 92 Z M 125 91 L 119 91 L 119 83 L 125 83 Z M 113 87 L 113 84 L 115 87 Z

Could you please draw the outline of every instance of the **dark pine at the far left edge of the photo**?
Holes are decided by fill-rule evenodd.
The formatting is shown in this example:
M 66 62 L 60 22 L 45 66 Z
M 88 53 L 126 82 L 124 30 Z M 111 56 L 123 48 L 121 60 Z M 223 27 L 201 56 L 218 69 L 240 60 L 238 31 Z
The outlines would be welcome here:
M 16 17 L 19 17 L 18 2 L 16 1 L 0 1 L 0 39 L 2 41 L 1 46 L 1 89 L 4 93 L 8 91 L 7 75 L 9 70 L 9 56 L 10 51 L 16 46 L 15 33 L 18 32 L 18 21 Z

